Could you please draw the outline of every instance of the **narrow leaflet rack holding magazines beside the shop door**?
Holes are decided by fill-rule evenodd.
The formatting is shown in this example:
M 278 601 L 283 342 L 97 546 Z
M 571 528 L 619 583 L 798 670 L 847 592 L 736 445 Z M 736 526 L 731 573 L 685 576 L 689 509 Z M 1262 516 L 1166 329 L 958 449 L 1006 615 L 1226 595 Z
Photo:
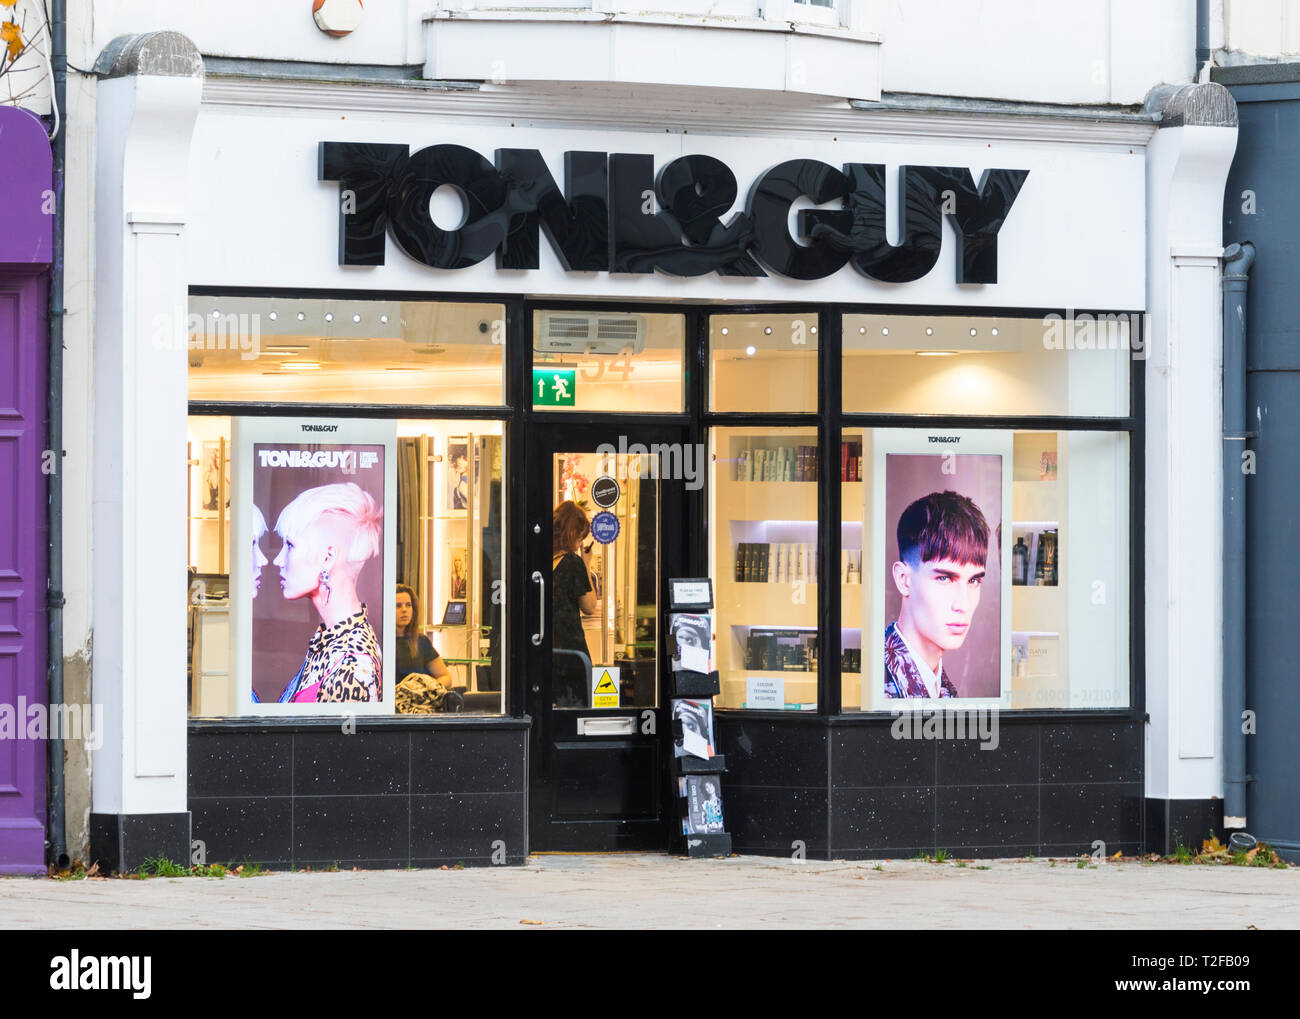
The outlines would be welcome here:
M 724 831 L 725 815 L 722 810 L 722 775 L 727 771 L 727 759 L 722 754 L 710 758 L 696 754 L 681 754 L 680 749 L 685 740 L 685 727 L 677 715 L 679 701 L 707 701 L 707 710 L 701 716 L 688 706 L 684 710 L 694 717 L 706 717 L 708 725 L 710 749 L 716 745 L 714 734 L 712 698 L 720 691 L 719 673 L 716 669 L 699 672 L 696 669 L 679 668 L 681 662 L 676 646 L 675 621 L 680 625 L 681 619 L 675 616 L 693 615 L 703 616 L 707 620 L 705 629 L 706 646 L 710 651 L 710 665 L 712 664 L 712 584 L 707 578 L 672 578 L 668 581 L 667 632 L 673 634 L 670 645 L 672 655 L 672 794 L 677 801 L 676 816 L 680 842 L 677 845 L 688 857 L 727 857 L 732 851 L 731 834 Z M 692 625 L 690 621 L 686 623 Z M 698 652 L 696 652 L 698 656 Z M 694 663 L 693 663 L 694 664 Z

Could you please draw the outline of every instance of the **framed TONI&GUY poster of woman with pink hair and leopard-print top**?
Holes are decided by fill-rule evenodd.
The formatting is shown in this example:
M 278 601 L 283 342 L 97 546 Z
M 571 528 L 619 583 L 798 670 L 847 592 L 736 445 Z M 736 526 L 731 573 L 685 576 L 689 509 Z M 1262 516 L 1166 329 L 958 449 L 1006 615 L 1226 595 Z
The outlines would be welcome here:
M 231 526 L 255 548 L 252 576 L 231 564 L 239 707 L 390 712 L 395 425 L 239 419 L 233 432 Z

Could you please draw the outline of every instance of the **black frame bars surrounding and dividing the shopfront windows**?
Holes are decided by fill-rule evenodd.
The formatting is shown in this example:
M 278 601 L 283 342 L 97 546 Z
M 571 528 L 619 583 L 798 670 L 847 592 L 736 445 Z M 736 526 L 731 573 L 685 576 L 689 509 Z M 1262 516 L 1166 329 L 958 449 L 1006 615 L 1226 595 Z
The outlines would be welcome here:
M 191 400 L 191 416 L 274 416 L 317 415 L 325 417 L 377 417 L 377 419 L 441 419 L 500 421 L 504 429 L 507 471 L 512 477 L 523 468 L 525 437 L 532 428 L 547 425 L 575 426 L 603 424 L 618 420 L 620 413 L 534 409 L 532 406 L 532 347 L 533 313 L 536 311 L 645 311 L 685 316 L 686 351 L 684 378 L 684 411 L 681 413 L 640 415 L 638 420 L 685 425 L 689 442 L 701 443 L 708 430 L 716 426 L 814 426 L 823 464 L 838 461 L 840 438 L 845 428 L 962 428 L 1032 432 L 1115 432 L 1128 434 L 1128 704 L 1126 707 L 1097 708 L 1013 708 L 1010 714 L 1020 720 L 1074 721 L 1096 719 L 1145 717 L 1145 612 L 1143 590 L 1145 582 L 1145 539 L 1143 521 L 1145 513 L 1145 360 L 1130 357 L 1128 412 L 1122 416 L 1067 415 L 902 415 L 902 413 L 846 413 L 842 409 L 842 321 L 845 315 L 890 316 L 945 316 L 945 317 L 1006 317 L 1037 318 L 1048 315 L 1066 316 L 1067 308 L 1002 308 L 931 304 L 879 304 L 854 302 L 748 302 L 719 300 L 667 302 L 662 299 L 581 299 L 530 298 L 521 294 L 465 292 L 465 291 L 411 291 L 411 290 L 359 290 L 338 287 L 246 287 L 196 285 L 188 289 L 191 296 L 283 298 L 317 300 L 411 300 L 500 304 L 506 309 L 504 398 L 502 406 L 455 404 L 365 404 L 365 403 L 239 403 L 229 400 Z M 712 315 L 815 315 L 818 318 L 818 402 L 815 412 L 768 413 L 763 411 L 712 411 L 708 406 L 711 368 L 708 350 L 708 321 Z M 1145 350 L 1145 322 L 1141 309 L 1095 308 L 1074 309 L 1074 315 L 1126 315 L 1138 324 L 1136 350 Z M 636 413 L 630 411 L 627 413 Z M 688 493 L 684 507 L 686 520 L 686 556 L 694 576 L 711 576 L 708 561 L 708 485 Z M 503 561 L 507 602 L 506 634 L 507 658 L 504 691 L 506 703 L 500 715 L 458 716 L 374 716 L 367 724 L 387 723 L 403 725 L 484 724 L 502 721 L 517 724 L 525 715 L 524 642 L 526 639 L 528 581 L 523 564 L 526 541 L 523 522 L 526 519 L 525 485 L 507 485 L 511 493 L 503 507 L 506 519 L 506 558 Z M 822 472 L 818 481 L 818 634 L 822 654 L 818 664 L 816 712 L 770 711 L 758 708 L 725 708 L 718 711 L 753 717 L 755 720 L 786 720 L 809 716 L 826 721 L 879 720 L 880 711 L 842 710 L 842 676 L 840 673 L 841 590 L 837 571 L 832 581 L 832 565 L 840 561 L 841 541 L 840 478 L 833 471 Z M 514 611 L 511 611 L 514 608 Z M 250 725 L 337 725 L 334 716 L 295 716 L 292 719 L 190 719 L 204 727 Z

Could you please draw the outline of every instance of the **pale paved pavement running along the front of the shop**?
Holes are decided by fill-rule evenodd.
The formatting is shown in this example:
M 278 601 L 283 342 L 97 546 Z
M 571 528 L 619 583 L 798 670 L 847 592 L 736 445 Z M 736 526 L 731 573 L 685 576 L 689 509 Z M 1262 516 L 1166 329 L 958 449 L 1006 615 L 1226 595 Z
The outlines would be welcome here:
M 0 880 L 4 931 L 693 927 L 1295 929 L 1300 868 L 607 854 L 463 871 Z

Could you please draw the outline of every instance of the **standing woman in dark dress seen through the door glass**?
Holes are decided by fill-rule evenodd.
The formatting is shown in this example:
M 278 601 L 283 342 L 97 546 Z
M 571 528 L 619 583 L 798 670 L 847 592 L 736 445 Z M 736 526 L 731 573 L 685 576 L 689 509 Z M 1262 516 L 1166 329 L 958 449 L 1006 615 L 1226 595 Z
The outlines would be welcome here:
M 582 548 L 582 538 L 590 530 L 586 513 L 577 503 L 563 502 L 555 507 L 551 519 L 551 688 L 555 707 L 586 707 L 590 702 L 590 659 L 584 663 L 577 655 L 564 654 L 588 654 L 582 615 L 592 615 L 597 607 L 589 565 L 592 551 Z

